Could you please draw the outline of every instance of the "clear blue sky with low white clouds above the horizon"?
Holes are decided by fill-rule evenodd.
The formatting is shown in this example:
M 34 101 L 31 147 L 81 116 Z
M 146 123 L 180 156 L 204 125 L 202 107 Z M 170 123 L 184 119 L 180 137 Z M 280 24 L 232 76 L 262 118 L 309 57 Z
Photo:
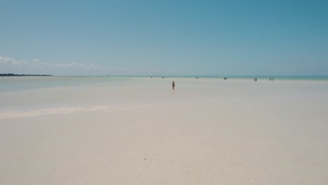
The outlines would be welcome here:
M 328 1 L 0 0 L 0 73 L 328 75 Z

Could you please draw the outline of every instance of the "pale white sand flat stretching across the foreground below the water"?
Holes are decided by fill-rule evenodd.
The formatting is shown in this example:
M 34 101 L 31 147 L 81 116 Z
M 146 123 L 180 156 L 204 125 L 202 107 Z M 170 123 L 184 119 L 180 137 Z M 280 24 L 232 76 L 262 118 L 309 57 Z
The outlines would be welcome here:
M 1 93 L 0 184 L 328 184 L 327 105 L 315 81 Z

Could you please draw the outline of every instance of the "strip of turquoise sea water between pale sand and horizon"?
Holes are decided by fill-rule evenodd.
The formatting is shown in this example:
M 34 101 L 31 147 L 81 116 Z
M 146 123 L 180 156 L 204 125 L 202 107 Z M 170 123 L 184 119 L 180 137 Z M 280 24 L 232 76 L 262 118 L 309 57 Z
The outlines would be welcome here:
M 125 78 L 123 78 L 125 77 Z M 0 77 L 0 93 L 29 90 L 36 88 L 55 88 L 68 85 L 84 85 L 92 83 L 127 81 L 129 76 L 4 76 Z M 151 76 L 130 76 L 151 78 Z M 195 78 L 196 76 L 165 76 L 165 78 Z M 254 79 L 266 80 L 275 78 L 275 81 L 328 81 L 328 76 L 198 76 L 199 78 L 223 79 Z M 162 76 L 153 76 L 162 78 Z

